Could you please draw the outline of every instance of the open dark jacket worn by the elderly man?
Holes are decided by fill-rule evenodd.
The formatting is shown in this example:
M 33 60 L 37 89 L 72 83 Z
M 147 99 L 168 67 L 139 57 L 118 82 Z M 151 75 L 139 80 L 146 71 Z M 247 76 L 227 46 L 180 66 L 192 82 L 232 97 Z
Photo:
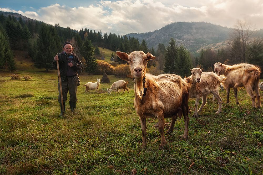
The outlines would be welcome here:
M 72 52 L 73 55 L 73 70 L 74 71 L 79 71 L 82 69 L 82 62 L 79 60 L 78 56 L 75 55 Z M 57 61 L 53 60 L 53 67 L 55 69 L 57 68 Z M 65 52 L 63 51 L 62 53 L 58 54 L 58 65 L 59 65 L 59 71 L 60 71 L 60 77 L 61 77 L 61 81 L 65 81 L 65 78 L 67 76 L 67 71 L 68 71 L 68 56 L 65 54 Z

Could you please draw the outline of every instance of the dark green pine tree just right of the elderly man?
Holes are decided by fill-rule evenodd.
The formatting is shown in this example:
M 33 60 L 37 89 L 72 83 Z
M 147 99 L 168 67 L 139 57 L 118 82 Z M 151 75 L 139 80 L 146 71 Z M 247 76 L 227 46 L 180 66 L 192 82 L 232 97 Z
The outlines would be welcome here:
M 88 74 L 93 73 L 97 67 L 97 60 L 94 57 L 94 47 L 90 40 L 86 37 L 82 44 L 82 56 L 86 61 L 87 67 L 85 67 L 85 71 Z

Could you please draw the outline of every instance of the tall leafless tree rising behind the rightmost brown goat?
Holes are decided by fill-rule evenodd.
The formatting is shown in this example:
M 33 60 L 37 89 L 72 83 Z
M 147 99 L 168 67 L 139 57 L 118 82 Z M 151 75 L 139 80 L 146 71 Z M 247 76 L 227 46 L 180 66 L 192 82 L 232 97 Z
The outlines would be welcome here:
M 228 42 L 232 59 L 236 62 L 247 62 L 253 53 L 251 46 L 261 43 L 262 37 L 252 28 L 252 25 L 238 20 Z

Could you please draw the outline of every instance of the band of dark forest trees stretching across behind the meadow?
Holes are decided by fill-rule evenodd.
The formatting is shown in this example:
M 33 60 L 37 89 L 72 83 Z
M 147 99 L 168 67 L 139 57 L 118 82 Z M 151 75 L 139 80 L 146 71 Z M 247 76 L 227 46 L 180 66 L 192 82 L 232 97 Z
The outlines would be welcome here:
M 261 32 L 262 34 L 262 32 Z M 175 73 L 181 76 L 190 75 L 190 68 L 202 67 L 206 71 L 213 71 L 215 62 L 234 64 L 249 62 L 263 68 L 263 42 L 262 35 L 250 30 L 250 25 L 237 23 L 228 45 L 213 50 L 202 49 L 197 56 L 190 53 L 184 45 L 178 46 L 176 40 L 171 38 L 169 45 L 159 43 L 157 49 L 148 48 L 146 41 L 138 38 L 120 36 L 114 33 L 102 33 L 92 29 L 79 31 L 63 28 L 59 24 L 48 25 L 37 20 L 22 20 L 11 15 L 0 15 L 0 43 L 4 52 L 0 54 L 0 67 L 14 70 L 12 50 L 25 50 L 34 60 L 35 66 L 52 68 L 54 55 L 62 51 L 64 41 L 73 43 L 74 52 L 83 62 L 83 70 L 93 73 L 97 66 L 96 59 L 102 55 L 98 47 L 115 51 L 130 53 L 134 50 L 150 52 L 156 60 L 150 60 L 148 67 L 159 73 Z M 125 63 L 112 53 L 112 57 L 119 63 Z M 196 55 L 196 54 L 195 54 Z

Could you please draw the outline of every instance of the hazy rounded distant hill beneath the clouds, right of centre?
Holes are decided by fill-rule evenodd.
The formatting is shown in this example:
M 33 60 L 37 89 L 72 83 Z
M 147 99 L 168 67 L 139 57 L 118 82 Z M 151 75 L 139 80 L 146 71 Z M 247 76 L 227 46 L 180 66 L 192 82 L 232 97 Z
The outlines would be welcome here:
M 231 30 L 231 28 L 205 22 L 176 22 L 153 32 L 131 33 L 127 36 L 133 36 L 140 41 L 144 39 L 149 48 L 155 49 L 159 43 L 167 46 L 170 39 L 174 38 L 178 45 L 183 44 L 189 51 L 195 52 L 201 47 L 224 42 Z

